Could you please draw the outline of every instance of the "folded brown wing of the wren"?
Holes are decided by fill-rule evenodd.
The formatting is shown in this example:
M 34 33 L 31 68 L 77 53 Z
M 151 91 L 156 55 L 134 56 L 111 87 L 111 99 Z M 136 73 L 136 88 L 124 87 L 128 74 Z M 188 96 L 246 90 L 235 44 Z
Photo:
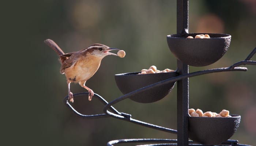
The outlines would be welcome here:
M 77 53 L 75 52 L 72 52 L 72 54 L 70 55 L 69 53 L 67 53 L 67 55 L 65 56 L 66 54 L 63 55 L 63 58 L 66 57 L 63 61 L 63 63 L 61 64 L 61 67 L 60 67 L 60 73 L 61 74 L 64 74 L 64 70 L 65 68 L 68 68 L 70 67 L 71 65 L 75 64 L 77 59 L 79 58 Z

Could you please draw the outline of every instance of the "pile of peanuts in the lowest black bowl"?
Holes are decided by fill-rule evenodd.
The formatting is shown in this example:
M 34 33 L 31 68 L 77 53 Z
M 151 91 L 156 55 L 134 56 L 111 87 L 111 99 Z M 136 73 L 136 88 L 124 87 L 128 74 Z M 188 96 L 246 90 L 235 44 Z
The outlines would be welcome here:
M 194 116 L 194 117 L 231 117 L 229 115 L 229 111 L 227 110 L 222 110 L 219 114 L 216 112 L 204 112 L 200 109 L 188 109 L 188 114 L 190 116 Z

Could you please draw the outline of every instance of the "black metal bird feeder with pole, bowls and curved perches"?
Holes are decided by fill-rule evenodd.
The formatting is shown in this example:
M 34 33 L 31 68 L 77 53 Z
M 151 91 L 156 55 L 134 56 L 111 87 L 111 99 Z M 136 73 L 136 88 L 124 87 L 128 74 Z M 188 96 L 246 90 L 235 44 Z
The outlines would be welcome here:
M 83 115 L 79 113 L 69 103 L 68 96 L 64 98 L 65 105 L 74 114 L 84 119 L 112 117 L 177 134 L 177 139 L 118 139 L 109 141 L 107 146 L 117 146 L 120 143 L 148 143 L 143 146 L 248 146 L 238 143 L 237 140 L 229 140 L 239 127 L 240 115 L 231 115 L 231 117 L 227 118 L 189 116 L 188 78 L 208 73 L 247 71 L 246 67 L 239 66 L 256 65 L 256 61 L 250 61 L 256 53 L 256 48 L 245 60 L 229 67 L 189 73 L 189 65 L 207 66 L 222 58 L 228 50 L 231 41 L 231 35 L 229 34 L 209 34 L 211 38 L 208 39 L 187 38 L 188 36 L 195 37 L 196 35 L 195 33 L 188 32 L 188 0 L 177 0 L 177 34 L 167 35 L 169 49 L 177 58 L 177 70 L 171 73 L 157 74 L 138 74 L 138 72 L 116 74 L 116 84 L 124 95 L 108 102 L 100 95 L 94 93 L 94 98 L 104 105 L 104 112 L 101 114 Z M 113 107 L 114 104 L 125 99 L 131 99 L 139 103 L 156 102 L 172 92 L 175 84 L 177 84 L 177 130 L 133 119 L 132 115 L 119 112 Z M 87 96 L 87 92 L 74 94 L 74 98 Z M 207 127 L 207 130 L 204 127 Z

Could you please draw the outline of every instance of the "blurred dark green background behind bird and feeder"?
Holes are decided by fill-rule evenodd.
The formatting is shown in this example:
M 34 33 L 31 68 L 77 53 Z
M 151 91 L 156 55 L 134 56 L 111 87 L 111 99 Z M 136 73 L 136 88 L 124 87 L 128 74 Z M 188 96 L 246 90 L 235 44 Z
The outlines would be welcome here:
M 1 8 L 2 106 L 1 143 L 5 145 L 104 146 L 123 138 L 170 138 L 176 135 L 106 118 L 84 120 L 63 104 L 65 76 L 56 53 L 44 44 L 53 39 L 64 52 L 102 43 L 126 51 L 108 56 L 86 82 L 111 101 L 122 93 L 114 74 L 137 72 L 151 65 L 176 69 L 166 35 L 176 34 L 175 0 L 41 0 L 5 1 Z M 189 32 L 232 35 L 229 50 L 216 63 L 190 72 L 227 67 L 256 47 L 255 0 L 190 0 Z M 252 60 L 256 60 L 253 57 Z M 256 145 L 256 66 L 247 72 L 225 72 L 189 78 L 189 108 L 242 116 L 231 139 Z M 85 92 L 72 84 L 73 93 Z M 145 122 L 176 129 L 176 87 L 150 104 L 129 99 L 116 104 L 120 112 Z M 77 102 L 84 114 L 102 112 L 97 100 Z

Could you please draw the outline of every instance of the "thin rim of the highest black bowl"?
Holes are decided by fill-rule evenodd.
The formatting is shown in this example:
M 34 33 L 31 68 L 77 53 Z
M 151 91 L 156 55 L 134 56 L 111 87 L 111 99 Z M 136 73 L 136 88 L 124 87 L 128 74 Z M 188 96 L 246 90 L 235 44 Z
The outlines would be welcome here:
M 189 34 L 208 34 L 208 35 L 222 35 L 223 37 L 214 37 L 214 38 L 208 38 L 208 39 L 220 39 L 220 38 L 231 38 L 230 34 L 218 34 L 218 33 L 188 33 L 188 34 L 170 34 L 167 35 L 167 38 L 178 38 L 178 39 L 189 39 L 189 38 L 185 38 L 185 37 L 174 37 L 174 35 L 189 35 Z M 189 40 L 208 40 L 208 39 L 189 39 Z

